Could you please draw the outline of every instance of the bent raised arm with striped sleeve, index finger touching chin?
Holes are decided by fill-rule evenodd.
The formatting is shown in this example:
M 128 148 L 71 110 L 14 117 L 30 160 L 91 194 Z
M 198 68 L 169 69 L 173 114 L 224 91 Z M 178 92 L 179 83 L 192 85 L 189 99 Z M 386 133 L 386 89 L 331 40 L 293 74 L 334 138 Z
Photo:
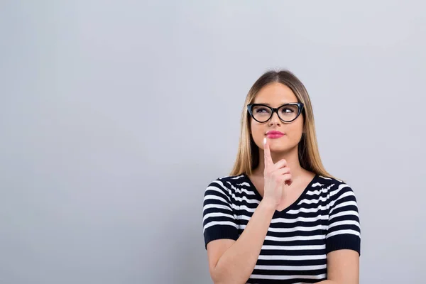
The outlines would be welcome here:
M 263 199 L 253 212 L 241 236 L 238 237 L 237 234 L 235 216 L 229 214 L 229 210 L 232 211 L 231 192 L 228 191 L 226 196 L 223 195 L 224 191 L 207 187 L 204 195 L 204 240 L 207 244 L 209 271 L 215 284 L 246 283 L 250 278 L 275 209 L 283 196 L 284 185 L 292 182 L 287 162 L 280 160 L 274 164 L 266 138 L 263 143 L 265 146 Z M 216 192 L 221 192 L 225 198 L 215 196 Z M 214 211 L 210 213 L 206 210 Z M 225 210 L 225 212 L 219 210 Z

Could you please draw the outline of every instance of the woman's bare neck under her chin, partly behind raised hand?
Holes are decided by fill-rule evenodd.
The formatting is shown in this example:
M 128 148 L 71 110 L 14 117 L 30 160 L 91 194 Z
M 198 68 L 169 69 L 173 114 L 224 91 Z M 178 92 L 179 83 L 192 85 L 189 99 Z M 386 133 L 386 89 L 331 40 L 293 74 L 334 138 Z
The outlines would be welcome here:
M 263 176 L 263 171 L 265 170 L 265 158 L 263 153 L 263 149 L 259 148 L 259 165 L 253 170 L 253 175 Z M 271 157 L 273 163 L 277 163 L 281 159 L 287 161 L 287 166 L 290 168 L 293 180 L 297 180 L 297 178 L 307 172 L 307 170 L 300 165 L 297 147 L 285 152 L 271 152 Z

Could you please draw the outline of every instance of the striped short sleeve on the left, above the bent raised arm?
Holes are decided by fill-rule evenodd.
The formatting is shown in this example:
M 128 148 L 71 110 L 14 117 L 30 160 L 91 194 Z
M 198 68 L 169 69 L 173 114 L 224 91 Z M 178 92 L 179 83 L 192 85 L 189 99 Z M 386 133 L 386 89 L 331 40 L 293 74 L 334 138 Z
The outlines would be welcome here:
M 231 194 L 220 179 L 209 184 L 203 202 L 204 245 L 217 239 L 238 239 L 238 225 L 231 204 Z

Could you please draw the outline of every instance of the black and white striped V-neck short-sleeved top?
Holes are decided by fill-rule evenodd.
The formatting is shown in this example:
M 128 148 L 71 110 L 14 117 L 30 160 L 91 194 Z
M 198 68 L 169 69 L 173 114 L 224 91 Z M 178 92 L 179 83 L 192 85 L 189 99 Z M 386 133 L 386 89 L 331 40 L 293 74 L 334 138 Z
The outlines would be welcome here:
M 238 239 L 262 197 L 245 174 L 217 178 L 204 192 L 204 243 Z M 341 180 L 315 175 L 299 199 L 275 211 L 247 283 L 317 283 L 327 279 L 327 253 L 360 253 L 354 191 Z

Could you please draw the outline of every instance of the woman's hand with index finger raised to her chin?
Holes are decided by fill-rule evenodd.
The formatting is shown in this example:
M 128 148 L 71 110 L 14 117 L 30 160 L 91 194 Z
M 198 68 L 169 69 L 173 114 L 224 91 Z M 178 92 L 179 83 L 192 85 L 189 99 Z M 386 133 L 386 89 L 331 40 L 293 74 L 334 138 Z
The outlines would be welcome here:
M 263 138 L 265 170 L 263 177 L 265 178 L 265 187 L 263 200 L 271 202 L 273 206 L 278 207 L 282 198 L 285 185 L 291 185 L 293 182 L 288 168 L 287 162 L 279 160 L 273 163 L 269 143 L 266 138 Z

